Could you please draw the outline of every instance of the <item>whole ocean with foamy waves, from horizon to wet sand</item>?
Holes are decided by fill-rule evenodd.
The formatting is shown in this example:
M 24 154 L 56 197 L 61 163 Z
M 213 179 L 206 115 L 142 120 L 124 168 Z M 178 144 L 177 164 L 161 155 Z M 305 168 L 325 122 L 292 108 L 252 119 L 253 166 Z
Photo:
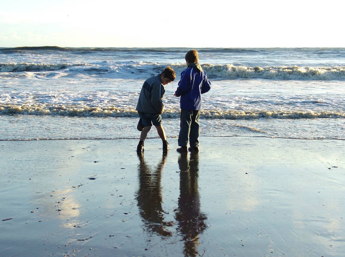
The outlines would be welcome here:
M 188 50 L 0 48 L 0 140 L 139 138 L 142 84 L 168 65 L 163 127 L 177 137 Z M 345 48 L 197 50 L 211 81 L 200 136 L 345 139 Z

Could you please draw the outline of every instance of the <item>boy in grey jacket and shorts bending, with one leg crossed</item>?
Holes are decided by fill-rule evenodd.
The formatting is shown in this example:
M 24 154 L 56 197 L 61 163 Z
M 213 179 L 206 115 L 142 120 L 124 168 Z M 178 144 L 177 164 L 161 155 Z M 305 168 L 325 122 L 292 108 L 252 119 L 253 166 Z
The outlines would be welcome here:
M 162 117 L 160 115 L 164 111 L 164 104 L 162 102 L 165 93 L 164 85 L 174 81 L 175 78 L 175 71 L 168 66 L 160 75 L 148 78 L 144 85 L 142 85 L 136 108 L 140 117 L 138 129 L 141 130 L 140 141 L 137 146 L 138 154 L 142 154 L 144 151 L 144 141 L 152 124 L 156 127 L 158 135 L 163 141 L 163 153 L 168 152 L 169 145 L 162 127 Z M 142 125 L 141 128 L 140 125 Z

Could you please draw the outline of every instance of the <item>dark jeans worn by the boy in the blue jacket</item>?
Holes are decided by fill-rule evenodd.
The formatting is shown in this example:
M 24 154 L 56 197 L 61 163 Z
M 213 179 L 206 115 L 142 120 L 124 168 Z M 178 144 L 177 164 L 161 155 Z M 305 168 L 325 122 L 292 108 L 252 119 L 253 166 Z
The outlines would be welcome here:
M 200 111 L 181 109 L 179 146 L 188 146 L 188 138 L 191 147 L 199 146 L 199 116 Z

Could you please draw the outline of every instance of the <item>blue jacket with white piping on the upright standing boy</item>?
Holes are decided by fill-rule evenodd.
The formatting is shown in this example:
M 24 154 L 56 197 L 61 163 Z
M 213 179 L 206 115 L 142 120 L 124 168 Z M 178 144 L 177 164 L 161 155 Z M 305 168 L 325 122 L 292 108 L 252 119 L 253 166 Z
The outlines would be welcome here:
M 189 63 L 188 68 L 181 73 L 175 95 L 180 96 L 180 108 L 185 110 L 201 110 L 203 98 L 201 94 L 211 88 L 211 82 L 200 64 Z

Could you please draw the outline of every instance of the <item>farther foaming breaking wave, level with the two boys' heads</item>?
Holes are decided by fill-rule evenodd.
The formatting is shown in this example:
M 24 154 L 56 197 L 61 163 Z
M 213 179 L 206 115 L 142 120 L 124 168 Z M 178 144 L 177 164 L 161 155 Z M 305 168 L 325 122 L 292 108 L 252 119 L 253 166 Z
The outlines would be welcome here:
M 0 63 L 0 72 L 24 72 L 24 71 L 57 71 L 70 67 L 84 67 L 82 69 L 67 70 L 68 73 L 80 73 L 87 71 L 92 74 L 113 72 L 113 77 L 133 78 L 134 73 L 143 78 L 148 75 L 161 72 L 167 65 L 175 69 L 176 73 L 182 72 L 185 63 L 156 63 L 134 62 L 129 65 L 114 63 L 108 65 L 91 65 L 88 63 Z M 88 67 L 85 70 L 85 67 Z M 247 67 L 232 64 L 214 65 L 204 63 L 201 65 L 210 79 L 274 79 L 274 80 L 345 80 L 345 67 Z

